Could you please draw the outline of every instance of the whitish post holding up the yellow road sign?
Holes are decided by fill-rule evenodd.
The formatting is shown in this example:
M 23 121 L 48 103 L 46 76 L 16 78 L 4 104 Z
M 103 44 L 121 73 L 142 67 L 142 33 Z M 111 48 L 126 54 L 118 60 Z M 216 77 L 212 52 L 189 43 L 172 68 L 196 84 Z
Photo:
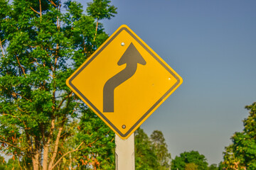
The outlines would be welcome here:
M 135 170 L 134 133 L 127 140 L 122 140 L 116 134 L 115 144 L 116 170 Z

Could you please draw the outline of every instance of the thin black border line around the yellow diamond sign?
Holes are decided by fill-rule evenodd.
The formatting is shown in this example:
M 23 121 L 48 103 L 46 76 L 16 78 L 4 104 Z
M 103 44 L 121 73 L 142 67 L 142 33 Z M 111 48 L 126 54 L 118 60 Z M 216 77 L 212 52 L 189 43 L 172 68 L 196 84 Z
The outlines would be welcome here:
M 80 74 L 80 72 L 82 72 L 83 69 L 85 69 L 85 67 L 87 67 L 88 64 L 90 64 L 90 62 L 92 62 L 92 60 L 95 59 L 95 57 L 97 57 L 97 55 L 100 54 L 100 52 L 102 52 L 102 50 L 105 49 L 105 47 L 107 47 L 107 45 L 110 44 L 110 42 L 112 42 L 112 40 L 114 40 L 114 38 L 117 37 L 117 35 L 119 35 L 119 33 L 122 32 L 122 30 L 126 30 L 127 33 L 129 33 L 129 35 L 132 36 L 132 38 L 134 38 L 135 40 L 137 40 L 137 42 L 139 42 L 140 45 L 142 45 L 142 47 L 144 47 L 144 49 L 149 52 L 149 54 L 154 57 L 155 60 L 157 60 L 173 77 L 175 77 L 175 79 L 177 80 L 176 84 L 174 84 L 174 86 L 171 86 L 171 89 L 169 89 L 165 94 L 164 96 L 161 96 L 161 98 L 159 98 L 158 101 L 156 101 L 156 103 L 154 103 L 153 106 L 151 106 L 151 108 L 149 108 L 149 111 L 146 111 L 146 113 L 142 116 L 142 118 L 140 118 L 137 123 L 135 123 L 132 128 L 130 128 L 125 134 L 123 134 L 122 132 L 120 132 L 117 127 L 115 127 L 111 122 L 110 120 L 108 120 L 105 115 L 103 115 L 103 113 L 101 113 L 73 84 L 72 84 L 72 81 L 73 79 L 75 79 L 75 77 L 78 76 L 78 74 Z M 129 135 L 130 132 L 132 132 L 132 130 L 134 130 L 134 128 L 142 122 L 142 120 L 146 117 L 146 115 L 149 115 L 149 113 L 169 94 L 171 93 L 171 91 L 179 84 L 181 80 L 176 76 L 176 74 L 174 74 L 174 72 L 171 72 L 171 69 L 169 69 L 166 64 L 164 64 L 163 62 L 161 62 L 161 60 L 159 60 L 158 57 L 156 57 L 156 55 L 154 55 L 153 52 L 151 52 L 151 50 L 149 50 L 146 45 L 144 45 L 144 43 L 142 43 L 133 33 L 131 33 L 130 30 L 128 30 L 127 28 L 121 28 L 114 36 L 112 36 L 112 38 L 102 47 L 100 48 L 100 50 L 97 51 L 97 53 L 95 55 L 93 55 L 90 60 L 88 62 L 85 63 L 84 66 L 82 66 L 82 68 L 80 68 L 78 70 L 78 72 L 75 73 L 75 75 L 73 77 L 71 77 L 71 79 L 68 81 L 68 83 L 70 84 L 70 86 L 73 87 L 73 89 L 75 89 L 75 91 L 78 92 L 78 94 L 80 94 L 80 96 L 82 96 L 83 99 L 85 99 L 85 101 L 87 101 L 87 103 L 95 110 L 97 111 L 97 113 L 104 119 L 106 120 L 107 123 L 109 123 L 112 128 L 114 128 L 114 130 L 116 130 L 118 132 L 118 134 L 122 137 L 127 137 L 127 135 Z

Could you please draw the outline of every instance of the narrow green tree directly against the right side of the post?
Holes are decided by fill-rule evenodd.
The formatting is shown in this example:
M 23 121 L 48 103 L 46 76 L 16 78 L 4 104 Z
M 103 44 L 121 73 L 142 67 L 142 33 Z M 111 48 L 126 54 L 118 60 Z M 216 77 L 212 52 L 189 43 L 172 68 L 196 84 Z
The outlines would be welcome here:
M 135 168 L 137 170 L 154 170 L 159 169 L 156 152 L 151 145 L 149 137 L 142 128 L 138 128 L 134 132 L 135 145 Z

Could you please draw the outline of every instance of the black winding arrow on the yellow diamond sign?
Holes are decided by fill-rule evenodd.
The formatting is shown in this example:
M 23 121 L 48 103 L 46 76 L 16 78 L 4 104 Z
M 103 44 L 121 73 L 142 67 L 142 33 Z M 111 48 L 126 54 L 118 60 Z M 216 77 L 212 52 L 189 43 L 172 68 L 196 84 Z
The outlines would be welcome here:
M 122 64 L 127 65 L 121 72 L 105 83 L 103 88 L 103 112 L 114 112 L 114 89 L 135 74 L 137 64 L 145 65 L 146 61 L 131 43 L 117 64 L 119 66 Z

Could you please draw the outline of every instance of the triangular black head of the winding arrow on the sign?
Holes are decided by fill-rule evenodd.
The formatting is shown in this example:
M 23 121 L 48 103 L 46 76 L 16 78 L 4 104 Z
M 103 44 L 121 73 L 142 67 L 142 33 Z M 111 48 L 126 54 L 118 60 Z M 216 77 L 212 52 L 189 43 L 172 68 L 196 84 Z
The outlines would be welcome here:
M 117 62 L 118 65 L 122 64 L 142 64 L 145 65 L 146 61 L 142 57 L 142 55 L 138 52 L 136 47 L 131 43 L 127 50 L 124 52 L 124 55 Z

